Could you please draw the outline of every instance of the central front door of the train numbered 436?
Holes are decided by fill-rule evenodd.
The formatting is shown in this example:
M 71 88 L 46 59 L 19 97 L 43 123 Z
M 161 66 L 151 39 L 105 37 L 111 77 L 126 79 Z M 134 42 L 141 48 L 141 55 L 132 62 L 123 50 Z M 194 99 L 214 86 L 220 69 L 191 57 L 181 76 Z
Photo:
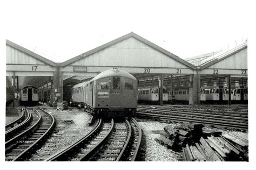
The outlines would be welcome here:
M 110 88 L 110 107 L 119 108 L 122 105 L 122 84 L 120 77 L 111 77 L 111 88 Z

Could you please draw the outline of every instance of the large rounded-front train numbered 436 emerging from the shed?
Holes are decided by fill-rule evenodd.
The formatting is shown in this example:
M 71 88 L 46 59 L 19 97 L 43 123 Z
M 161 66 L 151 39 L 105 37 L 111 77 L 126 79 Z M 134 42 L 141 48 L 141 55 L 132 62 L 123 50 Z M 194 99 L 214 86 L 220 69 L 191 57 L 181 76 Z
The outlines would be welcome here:
M 123 70 L 106 70 L 71 89 L 72 104 L 93 116 L 131 117 L 137 108 L 137 79 Z

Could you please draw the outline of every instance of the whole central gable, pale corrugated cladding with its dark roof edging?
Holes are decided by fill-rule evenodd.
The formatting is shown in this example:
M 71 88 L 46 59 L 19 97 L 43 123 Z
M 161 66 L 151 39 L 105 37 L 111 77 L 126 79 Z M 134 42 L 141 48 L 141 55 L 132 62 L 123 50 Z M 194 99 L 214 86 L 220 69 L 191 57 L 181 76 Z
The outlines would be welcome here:
M 191 63 L 131 32 L 60 64 L 86 66 L 173 67 L 196 69 Z

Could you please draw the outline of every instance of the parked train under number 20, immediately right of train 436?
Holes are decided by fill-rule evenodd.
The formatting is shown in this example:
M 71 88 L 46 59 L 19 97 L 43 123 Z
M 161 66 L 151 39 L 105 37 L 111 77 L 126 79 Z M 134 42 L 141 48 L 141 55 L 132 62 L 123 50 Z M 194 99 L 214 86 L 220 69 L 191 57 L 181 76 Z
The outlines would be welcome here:
M 160 87 L 159 86 L 146 86 L 138 88 L 138 102 L 139 103 L 159 103 Z M 168 101 L 168 94 L 166 87 L 163 86 L 163 102 Z

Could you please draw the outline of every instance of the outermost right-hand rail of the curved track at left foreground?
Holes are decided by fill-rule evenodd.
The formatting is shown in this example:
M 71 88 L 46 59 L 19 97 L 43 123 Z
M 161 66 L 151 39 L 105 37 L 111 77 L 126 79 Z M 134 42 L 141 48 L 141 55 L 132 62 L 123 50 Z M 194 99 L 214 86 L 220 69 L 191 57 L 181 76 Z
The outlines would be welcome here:
M 36 109 L 33 108 L 33 110 L 35 110 L 37 112 L 37 114 L 41 115 Z M 43 139 L 46 138 L 46 136 L 48 136 L 49 132 L 54 128 L 55 126 L 55 118 L 49 114 L 48 112 L 46 112 L 43 109 L 42 110 L 49 118 L 51 121 L 51 125 L 49 126 L 48 130 L 46 130 L 46 132 L 44 132 L 44 134 L 42 134 L 41 137 L 39 137 L 33 144 L 31 144 L 28 148 L 26 148 L 26 150 L 24 150 L 21 154 L 19 154 L 14 160 L 12 161 L 19 161 L 22 160 L 24 157 L 26 157 L 27 154 L 30 153 L 30 151 L 34 150 L 35 151 L 35 147 L 38 147 L 38 143 L 39 141 L 42 141 Z M 42 118 L 42 117 L 41 117 Z M 42 144 L 42 143 L 41 143 Z

